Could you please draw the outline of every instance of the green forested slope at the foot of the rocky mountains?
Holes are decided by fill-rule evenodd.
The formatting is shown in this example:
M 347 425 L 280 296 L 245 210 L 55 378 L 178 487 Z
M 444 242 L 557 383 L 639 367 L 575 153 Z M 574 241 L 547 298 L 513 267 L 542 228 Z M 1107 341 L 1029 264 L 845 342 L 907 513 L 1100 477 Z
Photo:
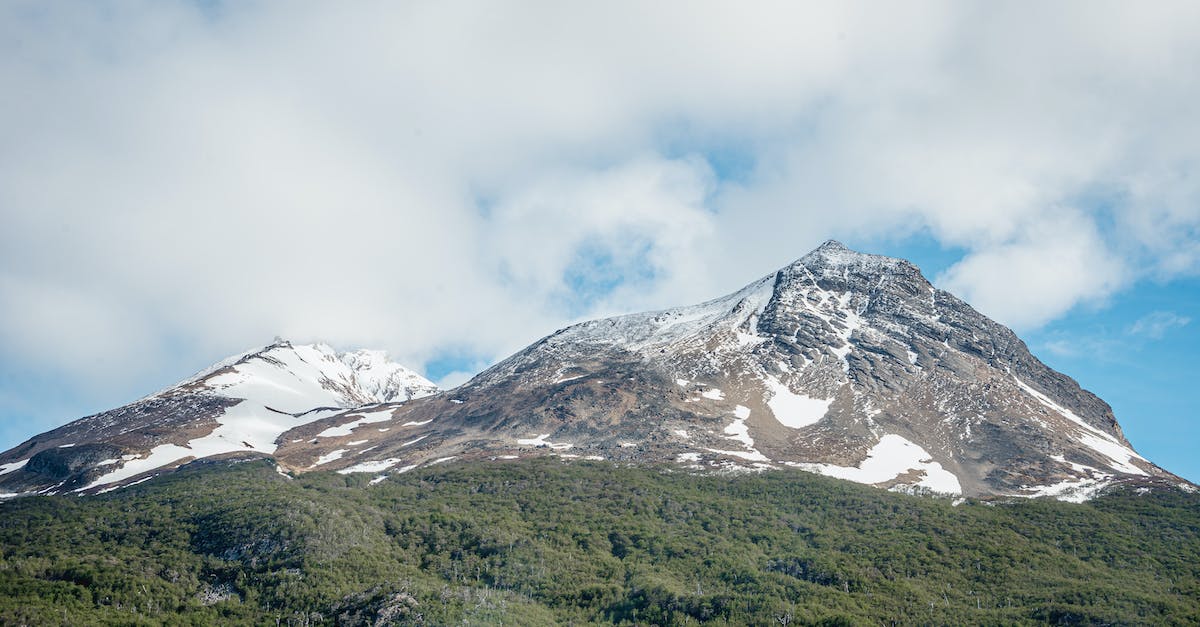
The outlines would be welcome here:
M 196 462 L 0 504 L 5 625 L 1196 623 L 1200 497 L 922 498 L 541 458 Z

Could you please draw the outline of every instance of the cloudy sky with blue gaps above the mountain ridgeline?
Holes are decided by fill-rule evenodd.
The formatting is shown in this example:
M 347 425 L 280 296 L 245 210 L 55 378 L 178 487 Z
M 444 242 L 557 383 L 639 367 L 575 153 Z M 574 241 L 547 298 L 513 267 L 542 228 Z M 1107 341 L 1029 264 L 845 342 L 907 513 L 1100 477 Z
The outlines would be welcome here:
M 828 238 L 1200 480 L 1200 4 L 0 5 L 0 449 L 275 336 L 452 386 Z

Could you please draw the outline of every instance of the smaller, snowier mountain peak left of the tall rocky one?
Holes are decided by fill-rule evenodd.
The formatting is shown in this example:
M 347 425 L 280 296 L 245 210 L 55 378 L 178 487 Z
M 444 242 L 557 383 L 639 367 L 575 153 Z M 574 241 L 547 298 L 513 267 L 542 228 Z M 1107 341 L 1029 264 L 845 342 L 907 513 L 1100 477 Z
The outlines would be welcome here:
M 103 490 L 193 459 L 270 455 L 280 434 L 296 425 L 437 390 L 380 351 L 276 340 L 28 440 L 0 455 L 0 491 Z

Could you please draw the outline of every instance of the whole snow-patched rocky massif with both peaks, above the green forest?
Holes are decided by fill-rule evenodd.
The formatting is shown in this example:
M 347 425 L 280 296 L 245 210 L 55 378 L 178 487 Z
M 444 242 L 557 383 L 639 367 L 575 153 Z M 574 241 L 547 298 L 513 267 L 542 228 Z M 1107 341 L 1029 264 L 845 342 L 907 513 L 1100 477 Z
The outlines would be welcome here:
M 796 467 L 966 496 L 1192 488 L 1138 455 L 1104 401 L 1012 330 L 911 263 L 836 241 L 724 298 L 562 329 L 444 393 L 353 354 L 361 360 L 281 344 L 242 356 L 0 455 L 0 490 L 96 490 L 148 478 L 168 458 L 234 452 L 272 455 L 281 471 L 378 479 L 553 454 Z M 277 377 L 302 392 L 281 396 Z

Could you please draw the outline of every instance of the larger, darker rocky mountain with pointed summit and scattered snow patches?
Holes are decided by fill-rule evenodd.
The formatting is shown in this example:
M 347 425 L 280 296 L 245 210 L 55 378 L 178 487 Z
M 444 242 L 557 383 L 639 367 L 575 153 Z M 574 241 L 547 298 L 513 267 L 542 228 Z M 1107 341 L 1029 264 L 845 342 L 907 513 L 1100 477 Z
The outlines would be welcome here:
M 563 329 L 392 411 L 340 440 L 366 453 L 320 466 L 551 452 L 1067 498 L 1170 477 L 1009 329 L 912 264 L 834 241 L 725 298 Z M 280 458 L 307 467 L 350 419 L 298 428 Z

